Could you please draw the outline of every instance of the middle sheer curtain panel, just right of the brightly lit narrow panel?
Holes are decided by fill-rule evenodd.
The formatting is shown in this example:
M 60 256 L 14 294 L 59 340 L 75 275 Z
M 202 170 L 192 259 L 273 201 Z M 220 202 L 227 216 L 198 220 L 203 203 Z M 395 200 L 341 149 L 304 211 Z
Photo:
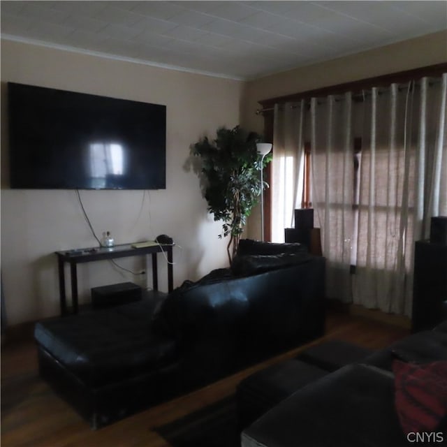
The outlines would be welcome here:
M 321 228 L 326 294 L 351 302 L 353 235 L 352 98 L 311 101 L 311 163 L 314 225 Z

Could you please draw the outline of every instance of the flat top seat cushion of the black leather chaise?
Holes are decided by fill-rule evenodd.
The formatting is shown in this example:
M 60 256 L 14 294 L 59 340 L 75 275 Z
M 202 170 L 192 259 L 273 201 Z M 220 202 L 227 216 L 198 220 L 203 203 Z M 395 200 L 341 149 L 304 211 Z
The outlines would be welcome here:
M 149 329 L 154 302 L 36 324 L 38 344 L 89 386 L 156 372 L 177 360 L 176 342 Z

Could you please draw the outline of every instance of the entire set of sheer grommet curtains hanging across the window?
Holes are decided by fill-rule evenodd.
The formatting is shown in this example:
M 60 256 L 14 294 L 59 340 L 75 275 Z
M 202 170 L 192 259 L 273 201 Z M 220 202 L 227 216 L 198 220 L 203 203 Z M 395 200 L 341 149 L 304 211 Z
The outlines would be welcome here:
M 432 216 L 447 216 L 446 107 L 447 73 L 355 99 L 312 98 L 310 110 L 275 106 L 273 240 L 284 241 L 300 207 L 310 140 L 329 298 L 411 314 L 414 242 L 429 236 Z

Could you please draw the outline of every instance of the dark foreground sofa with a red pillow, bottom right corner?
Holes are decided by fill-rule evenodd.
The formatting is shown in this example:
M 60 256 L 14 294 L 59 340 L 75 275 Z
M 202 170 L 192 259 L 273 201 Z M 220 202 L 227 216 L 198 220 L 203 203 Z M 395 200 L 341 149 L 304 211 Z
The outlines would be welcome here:
M 446 446 L 446 373 L 447 321 L 316 376 L 244 430 L 242 447 Z

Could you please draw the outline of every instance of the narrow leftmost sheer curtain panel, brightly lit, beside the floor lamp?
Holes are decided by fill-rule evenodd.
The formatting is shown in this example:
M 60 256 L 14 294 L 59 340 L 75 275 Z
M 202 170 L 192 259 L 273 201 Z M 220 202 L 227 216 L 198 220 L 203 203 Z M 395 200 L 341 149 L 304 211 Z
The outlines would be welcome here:
M 293 210 L 301 207 L 304 144 L 304 101 L 274 106 L 272 159 L 272 241 L 284 242 L 293 226 Z

